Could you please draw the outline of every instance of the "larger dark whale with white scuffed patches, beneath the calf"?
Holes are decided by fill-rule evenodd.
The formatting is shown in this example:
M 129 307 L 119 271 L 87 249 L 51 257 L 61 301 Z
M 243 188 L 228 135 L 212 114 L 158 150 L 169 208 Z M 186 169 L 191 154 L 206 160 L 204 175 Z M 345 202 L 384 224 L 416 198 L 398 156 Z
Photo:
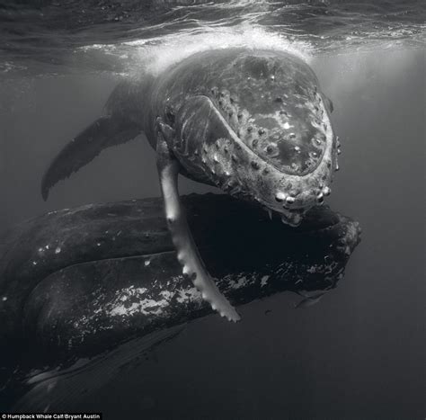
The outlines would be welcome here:
M 328 206 L 290 228 L 227 194 L 181 199 L 210 273 L 236 307 L 285 290 L 303 296 L 297 308 L 315 303 L 340 284 L 360 239 L 359 223 Z M 282 303 L 252 310 L 267 315 Z M 78 407 L 159 339 L 210 313 L 182 275 L 161 198 L 22 222 L 0 237 L 0 407 Z

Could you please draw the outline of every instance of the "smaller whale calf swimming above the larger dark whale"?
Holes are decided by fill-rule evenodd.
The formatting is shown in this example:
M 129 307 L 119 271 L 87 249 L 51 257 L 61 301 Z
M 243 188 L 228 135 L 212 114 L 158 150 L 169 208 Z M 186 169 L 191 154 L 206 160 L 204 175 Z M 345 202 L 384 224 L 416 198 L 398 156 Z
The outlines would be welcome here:
M 258 202 L 297 226 L 330 193 L 338 141 L 331 102 L 301 59 L 263 49 L 208 50 L 159 76 L 119 85 L 106 113 L 65 147 L 42 180 L 49 188 L 105 147 L 141 131 L 157 152 L 168 228 L 177 258 L 204 299 L 239 319 L 201 261 L 177 189 L 181 173 Z

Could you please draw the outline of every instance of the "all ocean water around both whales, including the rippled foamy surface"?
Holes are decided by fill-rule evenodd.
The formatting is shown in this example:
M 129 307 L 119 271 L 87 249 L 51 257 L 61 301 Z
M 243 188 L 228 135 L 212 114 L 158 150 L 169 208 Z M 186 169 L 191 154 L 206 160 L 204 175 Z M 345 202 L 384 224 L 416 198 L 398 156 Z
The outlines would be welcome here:
M 143 137 L 48 202 L 40 178 L 121 78 L 235 45 L 287 49 L 314 68 L 343 151 L 328 203 L 363 229 L 345 278 L 315 306 L 280 294 L 241 308 L 237 325 L 202 318 L 63 407 L 107 419 L 426 416 L 425 21 L 422 1 L 0 3 L 0 232 L 49 210 L 158 196 Z

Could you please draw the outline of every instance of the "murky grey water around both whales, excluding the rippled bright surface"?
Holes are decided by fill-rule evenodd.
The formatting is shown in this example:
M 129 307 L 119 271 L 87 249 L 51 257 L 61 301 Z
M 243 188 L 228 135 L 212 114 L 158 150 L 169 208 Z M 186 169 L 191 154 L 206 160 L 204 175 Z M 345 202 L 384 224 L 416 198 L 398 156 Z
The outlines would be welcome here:
M 422 419 L 425 416 L 425 57 L 376 50 L 316 58 L 334 103 L 341 171 L 328 203 L 362 242 L 318 304 L 283 294 L 187 326 L 75 411 L 104 418 Z M 145 139 L 102 153 L 40 198 L 40 178 L 97 118 L 117 80 L 53 76 L 0 85 L 0 231 L 48 210 L 159 195 Z M 207 191 L 183 180 L 182 192 Z M 265 315 L 266 309 L 272 312 Z

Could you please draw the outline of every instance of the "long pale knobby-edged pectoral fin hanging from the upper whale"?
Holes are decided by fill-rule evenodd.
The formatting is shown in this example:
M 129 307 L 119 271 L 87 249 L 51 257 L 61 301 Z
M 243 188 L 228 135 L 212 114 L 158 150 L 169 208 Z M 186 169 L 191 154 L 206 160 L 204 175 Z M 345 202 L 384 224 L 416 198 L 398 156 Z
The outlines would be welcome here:
M 209 302 L 211 308 L 217 310 L 220 316 L 236 322 L 240 320 L 240 316 L 226 297 L 217 289 L 217 285 L 209 276 L 192 238 L 179 198 L 179 162 L 170 153 L 161 132 L 157 136 L 156 151 L 158 174 L 164 198 L 165 217 L 172 234 L 173 244 L 176 246 L 178 260 L 183 266 L 183 274 L 191 278 L 194 286 L 200 290 L 203 299 Z

